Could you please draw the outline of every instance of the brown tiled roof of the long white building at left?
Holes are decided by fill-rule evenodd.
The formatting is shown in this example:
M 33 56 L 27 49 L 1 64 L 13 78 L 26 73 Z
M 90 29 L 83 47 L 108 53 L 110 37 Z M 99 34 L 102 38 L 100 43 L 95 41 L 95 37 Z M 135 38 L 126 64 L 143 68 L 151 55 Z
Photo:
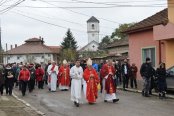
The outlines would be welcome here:
M 35 39 L 29 39 L 29 40 L 37 40 Z M 26 42 L 26 41 L 25 41 Z M 11 50 L 7 51 L 7 54 L 38 54 L 38 53 L 59 53 L 60 47 L 59 46 L 46 46 L 45 44 L 28 44 L 26 42 L 25 44 L 22 44 L 16 48 L 13 48 Z

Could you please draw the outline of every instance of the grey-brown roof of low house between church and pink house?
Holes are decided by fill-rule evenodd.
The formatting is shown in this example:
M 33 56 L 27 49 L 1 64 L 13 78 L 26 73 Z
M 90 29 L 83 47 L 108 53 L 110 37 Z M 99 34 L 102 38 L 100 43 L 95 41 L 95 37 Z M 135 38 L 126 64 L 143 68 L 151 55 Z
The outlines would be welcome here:
M 125 45 L 127 46 L 129 45 L 128 38 L 115 40 L 113 43 L 107 45 L 105 48 L 113 48 L 113 47 L 119 47 L 119 46 L 125 46 Z

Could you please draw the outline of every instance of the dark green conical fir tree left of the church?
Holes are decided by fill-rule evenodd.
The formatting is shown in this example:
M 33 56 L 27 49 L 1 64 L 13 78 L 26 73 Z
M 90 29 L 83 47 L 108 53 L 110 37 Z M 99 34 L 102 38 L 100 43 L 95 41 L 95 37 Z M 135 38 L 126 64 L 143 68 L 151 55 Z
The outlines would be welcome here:
M 75 41 L 75 38 L 73 37 L 73 34 L 70 31 L 70 29 L 68 29 L 68 31 L 66 32 L 66 36 L 63 42 L 61 43 L 61 46 L 63 49 L 77 49 L 77 42 Z

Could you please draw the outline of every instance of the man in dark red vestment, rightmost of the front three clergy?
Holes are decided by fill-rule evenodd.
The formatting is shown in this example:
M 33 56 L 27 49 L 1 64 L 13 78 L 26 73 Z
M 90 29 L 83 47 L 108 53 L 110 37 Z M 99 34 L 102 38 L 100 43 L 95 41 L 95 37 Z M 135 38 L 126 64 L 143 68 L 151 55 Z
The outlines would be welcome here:
M 109 60 L 108 63 L 104 64 L 100 75 L 103 78 L 103 89 L 105 93 L 104 102 L 113 101 L 113 103 L 119 101 L 116 96 L 116 85 L 114 82 L 115 68 L 112 65 L 112 60 Z

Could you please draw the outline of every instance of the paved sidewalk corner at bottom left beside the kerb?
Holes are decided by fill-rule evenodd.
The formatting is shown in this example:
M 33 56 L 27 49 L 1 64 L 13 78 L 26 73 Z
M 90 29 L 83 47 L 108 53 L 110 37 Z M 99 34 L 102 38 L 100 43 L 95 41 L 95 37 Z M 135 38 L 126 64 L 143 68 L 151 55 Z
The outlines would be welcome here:
M 42 116 L 14 96 L 0 96 L 0 116 Z

